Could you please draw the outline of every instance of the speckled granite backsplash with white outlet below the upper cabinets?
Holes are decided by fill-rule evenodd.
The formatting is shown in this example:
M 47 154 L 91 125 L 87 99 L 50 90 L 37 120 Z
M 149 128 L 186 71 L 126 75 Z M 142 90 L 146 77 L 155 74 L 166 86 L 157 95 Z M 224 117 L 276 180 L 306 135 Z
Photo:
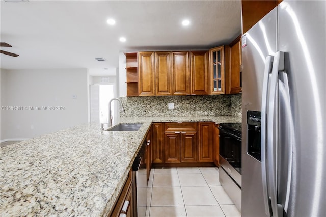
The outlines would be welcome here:
M 125 113 L 120 113 L 120 116 L 220 116 L 238 115 L 238 111 L 241 115 L 241 94 L 239 95 L 240 97 L 233 95 L 120 97 L 126 110 Z M 173 110 L 168 109 L 168 103 L 174 103 Z M 240 106 L 240 109 L 236 106 Z

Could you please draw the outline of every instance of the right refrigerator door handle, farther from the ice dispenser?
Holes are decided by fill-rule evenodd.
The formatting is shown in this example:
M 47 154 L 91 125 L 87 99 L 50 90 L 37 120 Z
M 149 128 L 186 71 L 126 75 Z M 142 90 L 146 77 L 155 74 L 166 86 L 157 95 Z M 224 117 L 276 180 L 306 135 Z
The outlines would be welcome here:
M 277 51 L 274 56 L 273 69 L 268 99 L 267 112 L 267 184 L 274 217 L 283 216 L 283 206 L 277 201 L 277 174 L 278 174 L 278 77 L 279 71 L 284 70 L 284 52 Z

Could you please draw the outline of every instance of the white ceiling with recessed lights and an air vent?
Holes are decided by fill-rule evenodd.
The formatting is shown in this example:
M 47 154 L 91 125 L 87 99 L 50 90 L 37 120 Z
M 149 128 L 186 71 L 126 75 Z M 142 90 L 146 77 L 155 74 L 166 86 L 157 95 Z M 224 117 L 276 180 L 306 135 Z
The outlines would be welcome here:
M 240 0 L 1 0 L 0 40 L 13 46 L 1 49 L 19 57 L 1 54 L 0 67 L 88 68 L 103 75 L 115 72 L 121 51 L 209 49 L 228 44 L 241 33 L 240 10 Z M 108 25 L 108 18 L 116 24 Z M 191 25 L 181 25 L 185 18 Z M 120 42 L 121 36 L 127 41 Z M 96 61 L 98 57 L 106 62 Z

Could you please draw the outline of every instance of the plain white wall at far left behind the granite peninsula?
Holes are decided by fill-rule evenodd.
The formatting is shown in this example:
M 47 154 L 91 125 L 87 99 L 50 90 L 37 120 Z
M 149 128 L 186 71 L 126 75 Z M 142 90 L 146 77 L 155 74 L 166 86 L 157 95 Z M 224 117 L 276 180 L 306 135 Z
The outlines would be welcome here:
M 33 138 L 88 121 L 87 69 L 1 70 L 0 81 L 1 106 L 23 107 L 1 111 L 2 141 Z M 42 106 L 64 110 L 46 111 Z

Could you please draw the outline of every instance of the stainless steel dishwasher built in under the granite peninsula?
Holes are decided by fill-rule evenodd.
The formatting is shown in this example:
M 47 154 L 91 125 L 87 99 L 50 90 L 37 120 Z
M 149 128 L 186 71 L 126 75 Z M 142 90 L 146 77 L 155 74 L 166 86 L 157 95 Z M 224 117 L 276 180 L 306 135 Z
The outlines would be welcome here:
M 134 208 L 138 217 L 144 217 L 147 208 L 146 140 L 132 164 Z

